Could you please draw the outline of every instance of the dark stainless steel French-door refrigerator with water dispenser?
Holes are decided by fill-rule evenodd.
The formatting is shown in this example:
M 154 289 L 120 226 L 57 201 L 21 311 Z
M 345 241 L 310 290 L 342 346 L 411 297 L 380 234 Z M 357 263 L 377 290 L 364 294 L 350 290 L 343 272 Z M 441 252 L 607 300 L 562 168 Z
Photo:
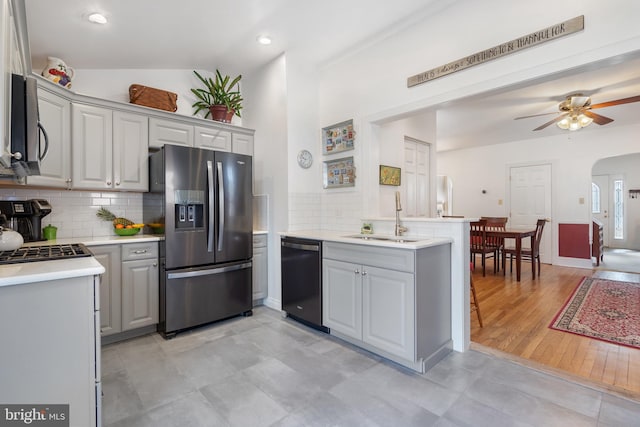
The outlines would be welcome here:
M 165 145 L 149 156 L 143 219 L 164 227 L 160 322 L 165 337 L 251 315 L 251 157 Z

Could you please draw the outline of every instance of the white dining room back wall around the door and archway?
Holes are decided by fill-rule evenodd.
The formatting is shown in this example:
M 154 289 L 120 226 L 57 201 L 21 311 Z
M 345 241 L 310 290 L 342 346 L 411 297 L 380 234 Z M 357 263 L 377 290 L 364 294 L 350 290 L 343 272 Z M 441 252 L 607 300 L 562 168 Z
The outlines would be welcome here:
M 593 165 L 604 157 L 637 152 L 638 132 L 640 125 L 612 128 L 607 131 L 606 140 L 599 132 L 581 134 L 578 131 L 548 138 L 448 151 L 438 155 L 438 173 L 453 179 L 456 215 L 506 216 L 509 212 L 508 167 L 550 163 L 553 188 L 552 262 L 589 268 L 589 260 L 584 263 L 558 256 L 558 224 L 591 222 L 589 201 Z M 636 169 L 637 164 L 636 160 Z M 637 177 L 635 182 L 640 184 Z M 482 194 L 481 189 L 486 189 L 487 194 Z M 584 203 L 580 201 L 582 198 Z M 498 199 L 503 199 L 504 205 L 499 206 Z

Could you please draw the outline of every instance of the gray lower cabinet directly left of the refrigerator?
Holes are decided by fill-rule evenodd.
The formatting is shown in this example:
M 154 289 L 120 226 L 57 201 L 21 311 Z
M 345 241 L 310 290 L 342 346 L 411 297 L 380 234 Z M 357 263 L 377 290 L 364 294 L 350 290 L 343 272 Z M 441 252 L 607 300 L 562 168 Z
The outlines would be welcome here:
M 115 342 L 155 330 L 159 309 L 158 243 L 89 248 L 106 270 L 100 281 L 103 342 Z

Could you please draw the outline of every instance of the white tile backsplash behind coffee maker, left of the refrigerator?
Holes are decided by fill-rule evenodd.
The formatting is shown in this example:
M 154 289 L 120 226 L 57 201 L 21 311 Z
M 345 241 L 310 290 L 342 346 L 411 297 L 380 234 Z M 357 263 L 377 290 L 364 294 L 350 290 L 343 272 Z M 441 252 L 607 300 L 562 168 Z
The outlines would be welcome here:
M 103 206 L 116 216 L 142 222 L 141 193 L 0 189 L 0 200 L 28 199 L 49 201 L 51 213 L 42 218 L 42 226 L 58 227 L 58 238 L 112 236 L 111 222 L 96 216 Z

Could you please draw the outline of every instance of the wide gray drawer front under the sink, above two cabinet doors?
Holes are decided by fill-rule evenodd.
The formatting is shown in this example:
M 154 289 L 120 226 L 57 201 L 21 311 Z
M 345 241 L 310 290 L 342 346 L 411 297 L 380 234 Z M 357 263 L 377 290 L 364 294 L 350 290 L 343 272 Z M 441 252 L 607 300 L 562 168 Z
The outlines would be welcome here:
M 415 251 L 411 249 L 324 242 L 322 257 L 409 273 L 415 270 Z

